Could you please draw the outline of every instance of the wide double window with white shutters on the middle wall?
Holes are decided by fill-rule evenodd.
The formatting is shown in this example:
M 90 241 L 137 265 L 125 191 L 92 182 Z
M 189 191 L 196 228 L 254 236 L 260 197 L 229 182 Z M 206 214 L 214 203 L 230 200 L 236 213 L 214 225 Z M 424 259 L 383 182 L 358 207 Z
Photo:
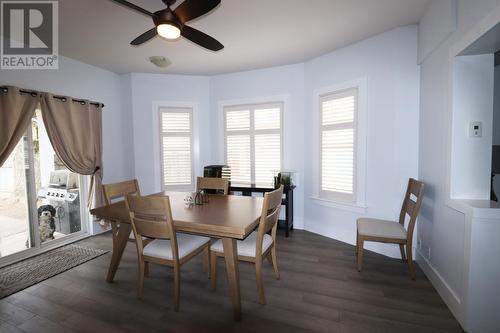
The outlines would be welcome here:
M 282 103 L 224 108 L 225 157 L 232 182 L 273 184 L 282 163 L 282 113 Z

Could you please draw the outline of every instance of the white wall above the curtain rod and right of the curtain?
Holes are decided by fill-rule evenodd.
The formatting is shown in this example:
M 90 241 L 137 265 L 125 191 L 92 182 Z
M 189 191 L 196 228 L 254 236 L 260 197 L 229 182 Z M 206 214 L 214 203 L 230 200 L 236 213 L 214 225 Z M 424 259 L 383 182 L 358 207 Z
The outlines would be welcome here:
M 119 75 L 61 56 L 58 70 L 0 70 L 0 84 L 104 103 L 104 182 L 134 176 L 132 140 L 126 130 L 132 119 L 123 108 Z

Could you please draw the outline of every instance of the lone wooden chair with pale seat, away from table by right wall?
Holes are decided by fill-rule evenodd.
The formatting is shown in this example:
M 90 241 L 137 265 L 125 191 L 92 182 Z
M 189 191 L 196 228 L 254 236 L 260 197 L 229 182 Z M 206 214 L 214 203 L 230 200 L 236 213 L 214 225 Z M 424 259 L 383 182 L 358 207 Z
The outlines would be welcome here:
M 408 261 L 410 277 L 415 280 L 415 266 L 412 254 L 413 230 L 423 198 L 424 183 L 410 178 L 399 214 L 399 223 L 373 218 L 359 218 L 356 221 L 358 229 L 356 237 L 358 271 L 361 272 L 363 266 L 363 244 L 365 241 L 392 243 L 399 245 L 401 259 Z M 406 215 L 410 217 L 407 228 L 405 228 Z

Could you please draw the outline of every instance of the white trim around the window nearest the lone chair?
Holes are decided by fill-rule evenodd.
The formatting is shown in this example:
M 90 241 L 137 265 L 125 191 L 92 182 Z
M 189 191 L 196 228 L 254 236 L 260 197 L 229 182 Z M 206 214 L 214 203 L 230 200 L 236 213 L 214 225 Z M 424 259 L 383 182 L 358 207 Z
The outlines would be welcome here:
M 321 174 L 321 97 L 324 95 L 341 92 L 348 89 L 358 90 L 358 110 L 356 120 L 356 161 L 355 161 L 355 193 L 354 202 L 344 202 L 336 199 L 320 197 L 320 174 Z M 367 145 L 367 79 L 360 78 L 338 85 L 317 89 L 313 92 L 312 122 L 316 135 L 313 136 L 313 192 L 311 198 L 317 204 L 348 211 L 364 212 L 366 209 L 366 145 Z

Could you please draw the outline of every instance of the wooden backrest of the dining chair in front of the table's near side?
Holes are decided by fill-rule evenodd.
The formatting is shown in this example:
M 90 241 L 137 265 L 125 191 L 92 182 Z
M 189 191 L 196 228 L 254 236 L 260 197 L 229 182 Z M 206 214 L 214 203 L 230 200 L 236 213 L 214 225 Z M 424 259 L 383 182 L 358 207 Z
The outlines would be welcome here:
M 173 258 L 177 259 L 177 237 L 169 197 L 127 195 L 125 202 L 139 253 L 142 254 L 143 237 L 170 239 Z

